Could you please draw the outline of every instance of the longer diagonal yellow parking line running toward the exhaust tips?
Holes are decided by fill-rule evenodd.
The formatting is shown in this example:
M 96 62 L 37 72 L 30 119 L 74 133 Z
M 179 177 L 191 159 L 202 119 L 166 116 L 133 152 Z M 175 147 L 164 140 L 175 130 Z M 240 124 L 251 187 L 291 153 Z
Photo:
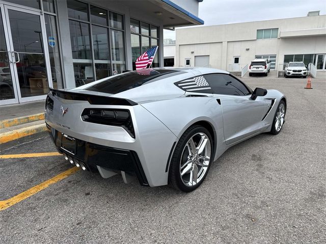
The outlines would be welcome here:
M 55 177 L 53 178 L 50 178 L 44 182 L 42 182 L 41 184 L 35 186 L 35 187 L 32 187 L 30 188 L 29 190 L 27 191 L 24 191 L 20 194 L 18 194 L 17 196 L 14 196 L 12 198 L 9 198 L 8 200 L 4 200 L 4 201 L 0 201 L 0 211 L 2 210 L 5 210 L 6 208 L 8 207 L 11 207 L 12 205 L 42 191 L 43 189 L 49 187 L 50 185 L 52 184 L 55 184 L 57 183 L 58 181 L 68 177 L 69 175 L 77 172 L 79 170 L 79 168 L 77 168 L 76 166 L 71 168 L 71 169 L 68 169 L 67 171 L 65 172 L 62 172 L 61 174 L 58 174 L 56 175 Z

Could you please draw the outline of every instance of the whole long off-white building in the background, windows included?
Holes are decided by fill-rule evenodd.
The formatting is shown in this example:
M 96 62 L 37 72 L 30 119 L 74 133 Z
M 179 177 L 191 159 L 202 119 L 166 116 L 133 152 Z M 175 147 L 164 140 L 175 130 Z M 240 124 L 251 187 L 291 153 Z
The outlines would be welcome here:
M 176 29 L 165 41 L 165 64 L 240 72 L 254 58 L 268 58 L 271 70 L 284 63 L 312 63 L 326 77 L 326 15 Z

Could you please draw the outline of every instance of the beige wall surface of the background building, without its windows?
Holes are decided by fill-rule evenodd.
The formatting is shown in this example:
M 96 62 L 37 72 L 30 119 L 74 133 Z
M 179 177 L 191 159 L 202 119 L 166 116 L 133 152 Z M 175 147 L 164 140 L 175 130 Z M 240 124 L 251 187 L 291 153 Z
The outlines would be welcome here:
M 257 40 L 257 29 L 267 28 L 279 28 L 278 38 Z M 175 65 L 180 67 L 185 58 L 194 66 L 197 55 L 209 55 L 210 66 L 223 70 L 234 56 L 243 67 L 255 55 L 277 55 L 278 67 L 284 55 L 305 53 L 326 53 L 326 15 L 176 29 Z

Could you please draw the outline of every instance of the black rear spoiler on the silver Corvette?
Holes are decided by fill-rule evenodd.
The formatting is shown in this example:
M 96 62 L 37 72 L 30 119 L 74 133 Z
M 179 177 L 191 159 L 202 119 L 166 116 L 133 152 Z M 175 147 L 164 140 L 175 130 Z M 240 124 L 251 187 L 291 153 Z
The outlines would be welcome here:
M 94 105 L 126 105 L 134 106 L 137 103 L 124 98 L 113 98 L 113 97 L 104 97 L 98 95 L 84 94 L 84 93 L 72 93 L 66 92 L 64 90 L 56 90 L 53 88 L 50 89 L 50 94 L 52 96 L 57 96 L 66 100 L 77 100 L 77 101 L 88 101 L 90 104 Z

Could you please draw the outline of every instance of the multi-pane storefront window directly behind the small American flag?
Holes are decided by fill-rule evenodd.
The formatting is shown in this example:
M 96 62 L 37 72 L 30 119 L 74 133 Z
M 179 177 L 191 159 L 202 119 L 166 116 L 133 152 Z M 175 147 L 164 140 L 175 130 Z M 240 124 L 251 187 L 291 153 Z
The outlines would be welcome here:
M 141 33 L 139 32 L 141 26 Z M 131 53 L 132 53 L 132 69 L 136 69 L 136 59 L 148 49 L 158 46 L 158 27 L 144 23 L 139 20 L 130 19 L 131 31 Z M 151 67 L 159 67 L 158 52 L 156 52 Z

